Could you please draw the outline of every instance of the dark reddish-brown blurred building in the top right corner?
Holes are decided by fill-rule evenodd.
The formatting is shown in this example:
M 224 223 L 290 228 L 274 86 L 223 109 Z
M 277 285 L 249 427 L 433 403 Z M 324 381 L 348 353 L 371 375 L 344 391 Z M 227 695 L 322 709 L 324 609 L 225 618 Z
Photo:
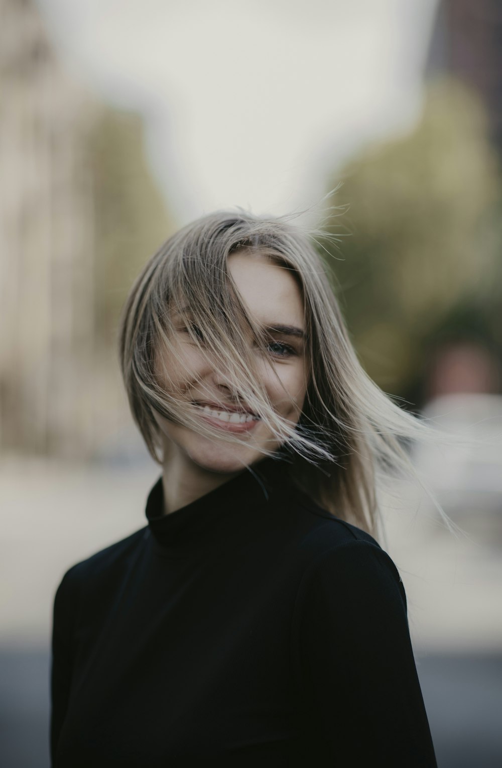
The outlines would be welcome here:
M 427 74 L 451 74 L 477 91 L 502 151 L 502 3 L 441 0 L 429 48 Z

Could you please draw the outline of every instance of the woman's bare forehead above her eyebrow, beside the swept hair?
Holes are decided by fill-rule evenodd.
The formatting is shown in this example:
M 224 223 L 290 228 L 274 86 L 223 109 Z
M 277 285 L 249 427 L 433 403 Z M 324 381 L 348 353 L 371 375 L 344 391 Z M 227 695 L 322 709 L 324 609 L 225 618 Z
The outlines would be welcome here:
M 249 312 L 260 323 L 303 327 L 302 292 L 296 278 L 260 251 L 230 254 L 229 272 Z

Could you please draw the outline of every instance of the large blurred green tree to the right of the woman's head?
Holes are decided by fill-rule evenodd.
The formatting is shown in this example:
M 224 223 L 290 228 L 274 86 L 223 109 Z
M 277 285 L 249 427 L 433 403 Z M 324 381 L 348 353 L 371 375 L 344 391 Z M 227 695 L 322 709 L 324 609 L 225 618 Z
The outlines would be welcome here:
M 456 81 L 432 84 L 416 130 L 358 157 L 339 179 L 350 236 L 341 253 L 323 241 L 325 258 L 365 369 L 408 397 L 429 340 L 457 305 L 474 303 L 488 326 L 500 325 L 500 168 L 481 103 Z

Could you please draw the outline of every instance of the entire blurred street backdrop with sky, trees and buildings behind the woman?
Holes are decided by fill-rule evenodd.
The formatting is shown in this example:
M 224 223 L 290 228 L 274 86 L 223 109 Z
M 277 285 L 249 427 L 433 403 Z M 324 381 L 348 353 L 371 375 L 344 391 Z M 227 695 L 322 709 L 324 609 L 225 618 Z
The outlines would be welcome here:
M 502 765 L 500 2 L 0 0 L 0 89 L 2 766 L 48 766 L 54 591 L 160 474 L 121 305 L 236 206 L 312 209 L 365 369 L 482 439 L 411 449 L 460 531 L 409 485 L 382 505 L 438 764 Z

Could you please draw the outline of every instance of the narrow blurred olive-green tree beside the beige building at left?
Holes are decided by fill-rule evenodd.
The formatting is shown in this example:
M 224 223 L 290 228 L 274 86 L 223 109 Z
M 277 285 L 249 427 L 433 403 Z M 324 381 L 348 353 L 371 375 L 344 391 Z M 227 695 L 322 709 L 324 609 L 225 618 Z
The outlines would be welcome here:
M 144 157 L 144 125 L 134 113 L 103 109 L 88 137 L 94 204 L 97 346 L 114 344 L 121 307 L 173 221 Z

